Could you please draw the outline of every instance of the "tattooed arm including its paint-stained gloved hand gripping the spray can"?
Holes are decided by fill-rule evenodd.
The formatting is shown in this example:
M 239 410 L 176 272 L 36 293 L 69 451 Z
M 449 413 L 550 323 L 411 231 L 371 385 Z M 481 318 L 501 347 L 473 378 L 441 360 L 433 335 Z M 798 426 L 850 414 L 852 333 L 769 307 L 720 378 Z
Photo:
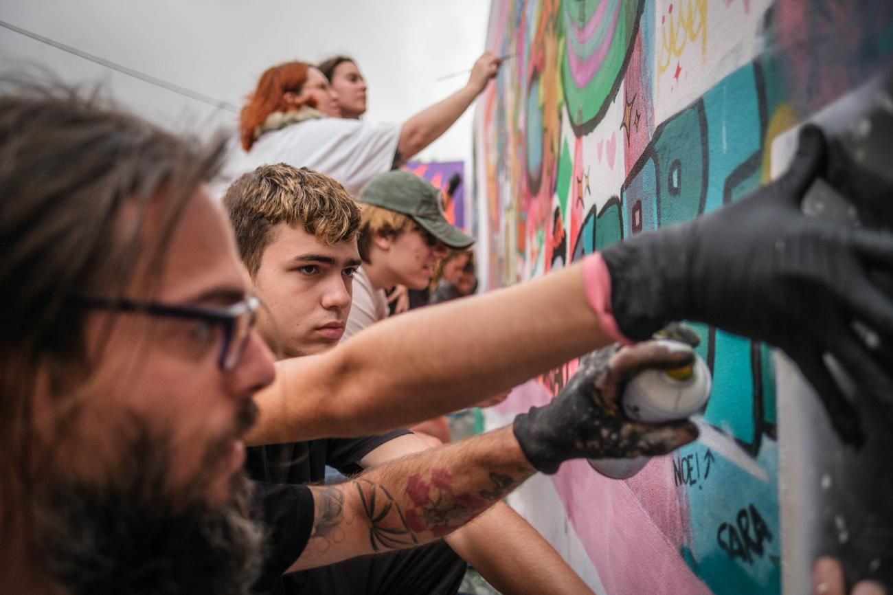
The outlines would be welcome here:
M 312 488 L 313 531 L 291 570 L 445 537 L 537 470 L 552 473 L 571 458 L 663 454 L 695 439 L 691 423 L 626 420 L 618 398 L 622 383 L 646 367 L 690 364 L 690 348 L 648 341 L 598 355 L 551 403 L 536 415 L 519 415 L 513 427 L 398 459 L 351 482 Z

